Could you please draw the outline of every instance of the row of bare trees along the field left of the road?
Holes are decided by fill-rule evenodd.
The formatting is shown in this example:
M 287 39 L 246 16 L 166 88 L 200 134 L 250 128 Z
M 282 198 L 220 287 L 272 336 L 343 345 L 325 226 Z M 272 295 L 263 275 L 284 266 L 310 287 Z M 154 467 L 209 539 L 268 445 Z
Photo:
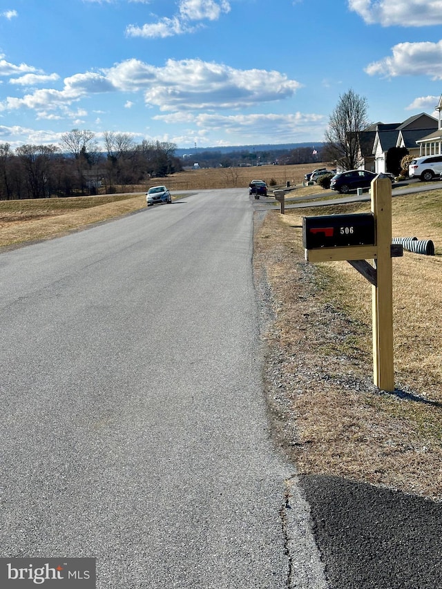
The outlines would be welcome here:
M 135 144 L 128 133 L 104 133 L 105 151 L 92 131 L 73 129 L 57 145 L 0 144 L 0 200 L 48 198 L 124 191 L 151 177 L 182 169 L 176 146 L 167 142 Z

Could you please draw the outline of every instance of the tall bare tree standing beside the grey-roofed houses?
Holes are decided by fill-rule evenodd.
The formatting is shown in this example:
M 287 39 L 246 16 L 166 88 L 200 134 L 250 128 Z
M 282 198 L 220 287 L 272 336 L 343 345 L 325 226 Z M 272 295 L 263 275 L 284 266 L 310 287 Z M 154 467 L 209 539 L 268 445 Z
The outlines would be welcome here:
M 367 99 L 349 90 L 340 95 L 329 126 L 325 131 L 327 142 L 323 155 L 336 162 L 344 170 L 354 170 L 361 165 L 359 133 L 369 126 Z

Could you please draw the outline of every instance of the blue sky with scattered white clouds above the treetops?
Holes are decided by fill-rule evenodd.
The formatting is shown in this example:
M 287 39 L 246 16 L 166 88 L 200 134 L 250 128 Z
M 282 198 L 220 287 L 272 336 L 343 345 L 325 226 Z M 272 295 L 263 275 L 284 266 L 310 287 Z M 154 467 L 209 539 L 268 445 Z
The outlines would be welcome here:
M 434 114 L 442 0 L 0 0 L 0 143 L 319 142 L 340 95 Z

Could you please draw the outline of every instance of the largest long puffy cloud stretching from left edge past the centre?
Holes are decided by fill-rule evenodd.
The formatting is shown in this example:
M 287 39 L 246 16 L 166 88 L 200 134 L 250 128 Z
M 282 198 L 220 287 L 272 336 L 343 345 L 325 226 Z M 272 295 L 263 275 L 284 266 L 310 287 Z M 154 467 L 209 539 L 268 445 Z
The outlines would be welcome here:
M 26 66 L 28 68 L 28 66 Z M 5 70 L 17 68 L 8 64 Z M 55 80 L 56 75 L 47 77 Z M 25 74 L 15 79 L 41 81 L 40 75 Z M 143 93 L 146 106 L 163 111 L 191 111 L 253 107 L 292 97 L 301 84 L 275 70 L 239 70 L 200 59 L 169 59 L 163 67 L 128 59 L 102 72 L 78 73 L 64 79 L 61 89 L 41 88 L 21 96 L 8 96 L 0 111 L 28 108 L 38 119 L 72 118 L 74 103 L 103 93 Z M 133 102 L 127 101 L 130 108 Z

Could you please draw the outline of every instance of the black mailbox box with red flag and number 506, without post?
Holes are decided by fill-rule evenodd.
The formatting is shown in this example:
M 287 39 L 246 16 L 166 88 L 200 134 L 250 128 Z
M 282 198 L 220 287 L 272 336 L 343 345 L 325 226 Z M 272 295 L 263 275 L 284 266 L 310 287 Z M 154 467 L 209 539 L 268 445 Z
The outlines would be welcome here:
M 305 249 L 375 245 L 374 215 L 321 215 L 302 220 L 302 244 Z

